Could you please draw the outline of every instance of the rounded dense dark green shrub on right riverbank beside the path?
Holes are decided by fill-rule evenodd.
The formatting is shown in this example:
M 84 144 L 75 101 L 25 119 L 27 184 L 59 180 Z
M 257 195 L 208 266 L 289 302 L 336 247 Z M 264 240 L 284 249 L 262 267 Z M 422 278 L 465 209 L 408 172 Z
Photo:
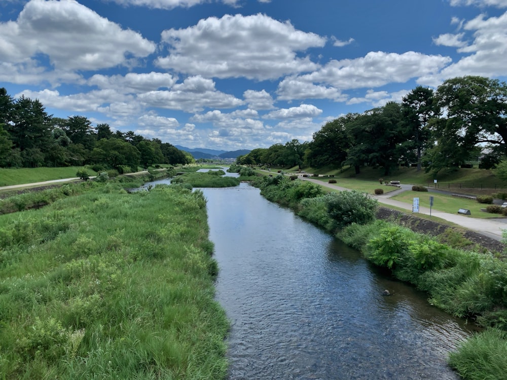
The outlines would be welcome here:
M 343 191 L 330 199 L 328 212 L 339 228 L 351 223 L 366 224 L 375 219 L 378 201 L 358 191 Z

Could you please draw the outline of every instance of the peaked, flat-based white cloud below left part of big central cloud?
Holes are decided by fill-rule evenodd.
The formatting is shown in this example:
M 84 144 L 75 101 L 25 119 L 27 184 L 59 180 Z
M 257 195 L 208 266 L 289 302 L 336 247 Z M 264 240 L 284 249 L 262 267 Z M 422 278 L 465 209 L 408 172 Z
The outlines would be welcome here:
M 217 91 L 212 80 L 200 75 L 187 78 L 171 90 L 149 91 L 139 94 L 137 98 L 147 107 L 186 112 L 200 112 L 204 108 L 234 108 L 244 104 L 243 100 L 233 95 Z

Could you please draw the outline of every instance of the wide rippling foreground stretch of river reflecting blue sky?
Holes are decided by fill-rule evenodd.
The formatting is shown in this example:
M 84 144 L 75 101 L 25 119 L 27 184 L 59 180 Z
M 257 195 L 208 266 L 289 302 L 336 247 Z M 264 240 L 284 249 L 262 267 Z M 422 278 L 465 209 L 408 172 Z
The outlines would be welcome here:
M 231 379 L 458 378 L 446 357 L 464 321 L 258 189 L 203 190 Z

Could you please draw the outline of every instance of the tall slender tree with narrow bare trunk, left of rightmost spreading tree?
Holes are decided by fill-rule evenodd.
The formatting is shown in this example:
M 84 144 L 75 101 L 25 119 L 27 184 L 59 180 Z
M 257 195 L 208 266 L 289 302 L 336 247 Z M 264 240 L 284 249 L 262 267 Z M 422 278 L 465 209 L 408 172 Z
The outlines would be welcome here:
M 416 151 L 417 171 L 421 171 L 421 157 L 424 147 L 431 134 L 429 121 L 440 115 L 440 109 L 434 98 L 433 90 L 417 86 L 403 97 L 402 103 L 403 124 L 408 129 L 407 137 L 413 143 Z

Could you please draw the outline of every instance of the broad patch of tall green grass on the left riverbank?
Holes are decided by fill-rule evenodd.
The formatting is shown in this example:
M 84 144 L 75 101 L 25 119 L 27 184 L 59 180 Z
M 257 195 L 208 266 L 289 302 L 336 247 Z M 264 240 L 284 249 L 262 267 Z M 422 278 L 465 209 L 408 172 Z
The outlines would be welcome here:
M 0 378 L 225 378 L 203 194 L 93 186 L 0 215 Z

